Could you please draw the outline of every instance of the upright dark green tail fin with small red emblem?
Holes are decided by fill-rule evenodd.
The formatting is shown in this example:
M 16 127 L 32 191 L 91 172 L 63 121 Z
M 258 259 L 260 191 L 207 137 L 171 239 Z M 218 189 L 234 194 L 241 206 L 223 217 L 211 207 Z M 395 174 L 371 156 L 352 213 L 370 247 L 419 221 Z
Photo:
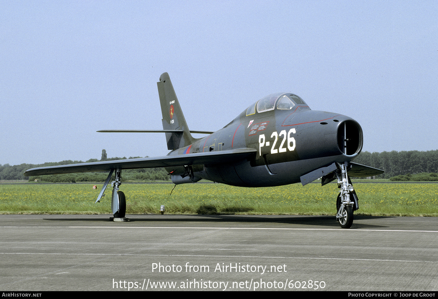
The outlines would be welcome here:
M 162 73 L 157 82 L 161 103 L 162 123 L 164 130 L 182 130 L 183 133 L 166 133 L 167 149 L 183 148 L 196 141 L 190 134 L 184 114 L 178 102 L 168 73 Z

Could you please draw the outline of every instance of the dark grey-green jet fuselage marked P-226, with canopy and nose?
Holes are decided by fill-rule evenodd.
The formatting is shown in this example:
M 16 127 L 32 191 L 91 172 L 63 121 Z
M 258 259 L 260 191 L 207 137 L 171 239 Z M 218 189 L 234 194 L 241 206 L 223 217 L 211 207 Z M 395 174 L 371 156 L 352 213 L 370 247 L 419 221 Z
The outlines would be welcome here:
M 207 179 L 245 187 L 292 184 L 314 169 L 350 162 L 362 149 L 362 129 L 351 117 L 311 110 L 292 93 L 260 101 L 219 131 L 169 154 L 254 148 L 255 157 L 241 163 L 193 165 L 187 182 Z

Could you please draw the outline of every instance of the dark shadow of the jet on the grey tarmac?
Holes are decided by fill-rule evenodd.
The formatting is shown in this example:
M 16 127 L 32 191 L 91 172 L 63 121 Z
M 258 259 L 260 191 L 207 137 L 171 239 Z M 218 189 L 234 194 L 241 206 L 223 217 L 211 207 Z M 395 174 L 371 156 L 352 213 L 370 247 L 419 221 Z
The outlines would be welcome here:
M 128 215 L 127 215 L 128 216 Z M 149 214 L 147 217 L 144 214 L 129 215 L 131 222 L 134 221 L 144 221 L 144 222 L 230 222 L 230 223 L 289 223 L 289 224 L 299 224 L 299 225 L 313 225 L 322 227 L 339 227 L 338 222 L 334 216 L 314 216 L 314 215 L 290 215 L 276 217 L 272 215 L 202 215 L 202 214 L 180 214 L 180 215 L 159 215 L 159 214 Z M 182 216 L 182 217 L 178 217 Z M 365 216 L 365 215 L 354 215 L 355 220 L 376 220 L 382 218 L 393 218 L 391 216 Z M 110 221 L 109 218 L 44 218 L 44 220 L 51 221 Z M 354 228 L 384 228 L 388 226 L 384 225 L 374 225 L 367 223 L 354 223 L 351 229 Z M 299 227 L 291 227 L 299 228 Z

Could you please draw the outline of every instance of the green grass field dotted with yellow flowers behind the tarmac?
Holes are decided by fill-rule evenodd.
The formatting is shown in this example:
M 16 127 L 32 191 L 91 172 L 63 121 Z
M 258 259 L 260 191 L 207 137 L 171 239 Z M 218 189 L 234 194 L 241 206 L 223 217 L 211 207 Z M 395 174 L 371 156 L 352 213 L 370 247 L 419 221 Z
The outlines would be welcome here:
M 93 184 L 0 185 L 1 214 L 109 214 L 111 188 L 94 203 Z M 279 214 L 335 215 L 336 184 L 293 184 L 241 188 L 223 184 L 122 184 L 127 214 Z M 373 216 L 438 216 L 438 184 L 355 184 L 360 209 Z

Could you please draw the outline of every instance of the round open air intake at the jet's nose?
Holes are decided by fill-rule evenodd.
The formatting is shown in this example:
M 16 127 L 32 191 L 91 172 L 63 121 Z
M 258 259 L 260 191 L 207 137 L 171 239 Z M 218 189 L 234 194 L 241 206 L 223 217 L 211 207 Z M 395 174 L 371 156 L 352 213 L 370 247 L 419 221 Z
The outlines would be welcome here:
M 347 156 L 360 153 L 363 145 L 362 128 L 354 120 L 345 120 L 338 127 L 338 147 Z

